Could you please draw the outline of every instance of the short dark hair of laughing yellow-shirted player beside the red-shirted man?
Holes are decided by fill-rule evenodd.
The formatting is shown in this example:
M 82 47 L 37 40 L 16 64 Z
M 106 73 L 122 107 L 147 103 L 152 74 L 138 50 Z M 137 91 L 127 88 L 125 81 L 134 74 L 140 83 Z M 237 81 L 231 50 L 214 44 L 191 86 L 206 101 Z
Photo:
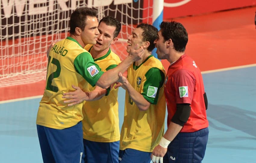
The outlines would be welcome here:
M 136 28 L 141 28 L 142 32 L 142 41 L 148 41 L 148 51 L 152 51 L 155 48 L 154 41 L 157 39 L 158 29 L 150 24 L 141 23 Z

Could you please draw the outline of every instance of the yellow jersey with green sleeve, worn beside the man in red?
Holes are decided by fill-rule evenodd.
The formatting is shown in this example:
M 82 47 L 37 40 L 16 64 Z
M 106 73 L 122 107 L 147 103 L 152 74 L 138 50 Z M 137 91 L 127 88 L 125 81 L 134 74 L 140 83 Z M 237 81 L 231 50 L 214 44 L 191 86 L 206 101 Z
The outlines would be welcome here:
M 164 67 L 158 59 L 149 56 L 141 65 L 131 65 L 127 78 L 136 91 L 151 105 L 140 111 L 126 91 L 124 121 L 120 136 L 120 149 L 152 152 L 164 134 L 165 98 Z

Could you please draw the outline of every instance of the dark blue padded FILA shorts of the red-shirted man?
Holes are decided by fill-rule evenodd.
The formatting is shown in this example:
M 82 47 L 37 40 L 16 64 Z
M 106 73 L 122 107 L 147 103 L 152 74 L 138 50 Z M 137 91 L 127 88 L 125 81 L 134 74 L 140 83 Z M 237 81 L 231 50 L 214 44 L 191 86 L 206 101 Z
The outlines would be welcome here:
M 201 163 L 204 158 L 209 129 L 180 132 L 169 144 L 164 163 Z

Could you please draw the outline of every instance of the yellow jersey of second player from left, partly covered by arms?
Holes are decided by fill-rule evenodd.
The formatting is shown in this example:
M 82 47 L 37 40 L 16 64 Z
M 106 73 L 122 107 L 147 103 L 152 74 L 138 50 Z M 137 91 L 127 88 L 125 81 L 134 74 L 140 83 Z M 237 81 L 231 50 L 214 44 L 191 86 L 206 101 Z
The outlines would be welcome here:
M 92 45 L 85 49 L 91 51 Z M 116 67 L 120 58 L 111 51 L 94 59 L 102 71 Z M 84 91 L 92 91 L 95 87 L 87 85 Z M 95 142 L 115 142 L 120 140 L 117 89 L 112 89 L 107 96 L 97 101 L 86 101 L 83 105 L 83 138 Z

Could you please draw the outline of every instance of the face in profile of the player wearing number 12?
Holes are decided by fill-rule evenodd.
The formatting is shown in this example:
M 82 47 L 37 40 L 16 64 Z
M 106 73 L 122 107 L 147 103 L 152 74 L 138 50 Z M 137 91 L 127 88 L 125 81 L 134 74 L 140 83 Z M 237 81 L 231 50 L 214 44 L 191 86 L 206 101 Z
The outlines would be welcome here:
M 87 16 L 84 30 L 81 31 L 81 38 L 85 45 L 96 44 L 98 31 L 98 19 L 96 17 Z

